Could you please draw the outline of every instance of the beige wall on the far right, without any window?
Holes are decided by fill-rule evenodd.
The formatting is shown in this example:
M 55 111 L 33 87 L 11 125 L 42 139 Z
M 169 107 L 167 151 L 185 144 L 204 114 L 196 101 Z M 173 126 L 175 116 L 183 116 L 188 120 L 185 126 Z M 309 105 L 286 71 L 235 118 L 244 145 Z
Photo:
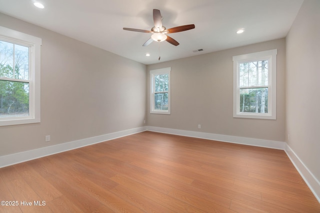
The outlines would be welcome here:
M 304 0 L 286 39 L 287 143 L 320 181 L 320 1 Z

